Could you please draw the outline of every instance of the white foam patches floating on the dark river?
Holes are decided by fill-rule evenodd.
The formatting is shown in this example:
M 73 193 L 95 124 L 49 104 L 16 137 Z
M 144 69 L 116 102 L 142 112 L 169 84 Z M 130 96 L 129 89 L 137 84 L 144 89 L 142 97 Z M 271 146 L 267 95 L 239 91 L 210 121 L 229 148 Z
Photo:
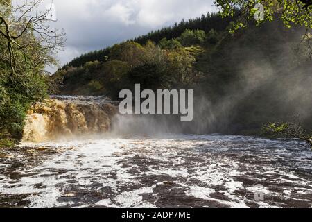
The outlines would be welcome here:
M 266 143 L 270 144 L 270 148 L 266 148 Z M 153 184 L 153 181 L 150 181 L 148 186 L 144 185 L 138 178 L 145 176 L 155 176 L 155 178 L 162 176 L 167 178 L 168 176 L 173 181 L 166 182 L 182 187 L 185 190 L 185 195 L 203 201 L 213 200 L 230 207 L 247 207 L 247 193 L 254 194 L 259 191 L 257 187 L 245 187 L 243 182 L 236 179 L 237 177 L 248 178 L 254 184 L 261 184 L 261 180 L 270 180 L 293 185 L 281 195 L 290 196 L 293 191 L 302 195 L 311 194 L 311 181 L 296 175 L 293 171 L 270 165 L 257 166 L 257 169 L 254 169 L 253 164 L 219 154 L 232 151 L 236 148 L 236 144 L 239 144 L 238 148 L 241 148 L 243 144 L 248 144 L 241 151 L 244 155 L 248 155 L 248 152 L 251 155 L 254 154 L 254 148 L 266 153 L 266 155 L 259 155 L 259 160 L 263 161 L 277 160 L 275 154 L 269 155 L 271 150 L 275 151 L 274 148 L 277 149 L 276 153 L 279 153 L 279 158 L 284 158 L 289 152 L 282 148 L 288 145 L 283 145 L 279 141 L 222 135 L 167 135 L 162 138 L 107 138 L 40 144 L 27 143 L 21 144 L 21 146 L 62 148 L 64 152 L 52 156 L 33 169 L 20 172 L 22 174 L 35 173 L 33 176 L 22 176 L 19 180 L 1 176 L 0 194 L 29 194 L 27 200 L 31 201 L 30 207 L 62 207 L 66 205 L 75 207 L 89 207 L 90 205 L 156 207 L 155 203 L 144 200 L 143 196 L 148 194 L 157 198 L 157 194 L 154 193 L 155 187 L 163 183 L 155 180 L 154 185 L 150 185 L 150 183 Z M 279 149 L 279 147 L 281 148 Z M 304 151 L 302 152 L 304 153 Z M 296 153 L 296 155 L 300 156 L 302 160 L 306 160 L 306 153 L 303 155 Z M 141 159 L 133 162 L 136 157 L 140 157 L 142 161 L 146 162 L 141 162 Z M 189 160 L 189 158 L 193 159 Z M 129 166 L 125 167 L 123 164 L 129 164 Z M 58 173 L 59 171 L 62 173 Z M 135 171 L 135 173 L 131 173 L 131 171 Z M 251 173 L 256 173 L 261 177 L 248 176 Z M 97 203 L 83 203 L 83 201 L 62 203 L 60 198 L 67 191 L 71 191 L 69 180 L 73 180 L 73 185 L 76 187 L 91 189 L 90 191 L 103 192 L 101 188 L 96 188 L 96 190 L 90 188 L 94 183 L 98 183 L 102 187 L 110 187 L 111 197 L 104 198 Z M 201 184 L 192 184 L 189 182 L 192 180 L 198 180 Z M 38 184 L 41 185 L 41 188 L 36 188 Z M 218 193 L 229 200 L 211 197 L 211 194 L 216 192 L 216 187 L 220 189 Z M 263 194 L 270 195 L 269 189 L 264 187 L 261 191 Z M 170 189 L 168 190 L 170 191 Z M 246 196 L 242 194 L 243 192 L 246 192 Z M 303 198 L 303 200 L 306 199 Z M 259 207 L 274 206 L 279 207 L 278 204 L 259 203 Z

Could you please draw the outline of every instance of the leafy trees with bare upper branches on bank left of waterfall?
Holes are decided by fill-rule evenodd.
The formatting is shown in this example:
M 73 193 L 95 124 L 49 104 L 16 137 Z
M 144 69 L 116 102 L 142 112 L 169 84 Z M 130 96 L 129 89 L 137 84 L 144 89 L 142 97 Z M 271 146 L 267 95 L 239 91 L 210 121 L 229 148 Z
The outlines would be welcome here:
M 51 30 L 49 10 L 36 13 L 42 0 L 11 6 L 0 0 L 0 131 L 21 137 L 24 117 L 33 101 L 44 99 L 49 77 L 46 65 L 62 48 L 64 33 Z

